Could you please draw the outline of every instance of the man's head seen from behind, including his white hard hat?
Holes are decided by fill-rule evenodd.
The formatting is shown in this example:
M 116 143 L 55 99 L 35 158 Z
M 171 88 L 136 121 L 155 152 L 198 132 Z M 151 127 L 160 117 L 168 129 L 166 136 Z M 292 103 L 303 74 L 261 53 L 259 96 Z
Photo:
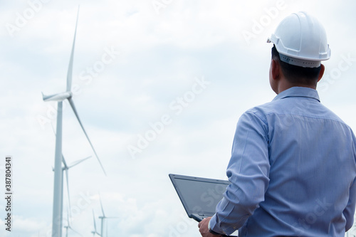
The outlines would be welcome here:
M 277 94 L 292 86 L 316 88 L 324 72 L 321 60 L 330 58 L 325 29 L 317 19 L 304 12 L 287 16 L 268 42 L 273 43 L 270 83 Z

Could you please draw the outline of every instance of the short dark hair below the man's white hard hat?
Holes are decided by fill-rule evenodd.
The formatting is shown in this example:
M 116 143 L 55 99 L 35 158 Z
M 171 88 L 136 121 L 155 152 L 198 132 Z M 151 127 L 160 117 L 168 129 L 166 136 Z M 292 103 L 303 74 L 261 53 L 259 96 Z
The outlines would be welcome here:
M 315 85 L 318 81 L 321 65 L 318 68 L 303 68 L 281 61 L 276 46 L 272 48 L 272 59 L 278 60 L 282 72 L 290 83 L 301 83 L 305 85 Z

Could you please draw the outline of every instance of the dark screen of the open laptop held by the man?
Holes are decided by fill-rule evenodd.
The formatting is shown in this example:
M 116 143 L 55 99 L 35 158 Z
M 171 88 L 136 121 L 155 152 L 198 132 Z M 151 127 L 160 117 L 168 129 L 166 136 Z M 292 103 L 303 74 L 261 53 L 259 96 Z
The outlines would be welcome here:
M 204 179 L 169 174 L 187 214 L 213 215 L 216 205 L 223 198 L 226 180 Z

